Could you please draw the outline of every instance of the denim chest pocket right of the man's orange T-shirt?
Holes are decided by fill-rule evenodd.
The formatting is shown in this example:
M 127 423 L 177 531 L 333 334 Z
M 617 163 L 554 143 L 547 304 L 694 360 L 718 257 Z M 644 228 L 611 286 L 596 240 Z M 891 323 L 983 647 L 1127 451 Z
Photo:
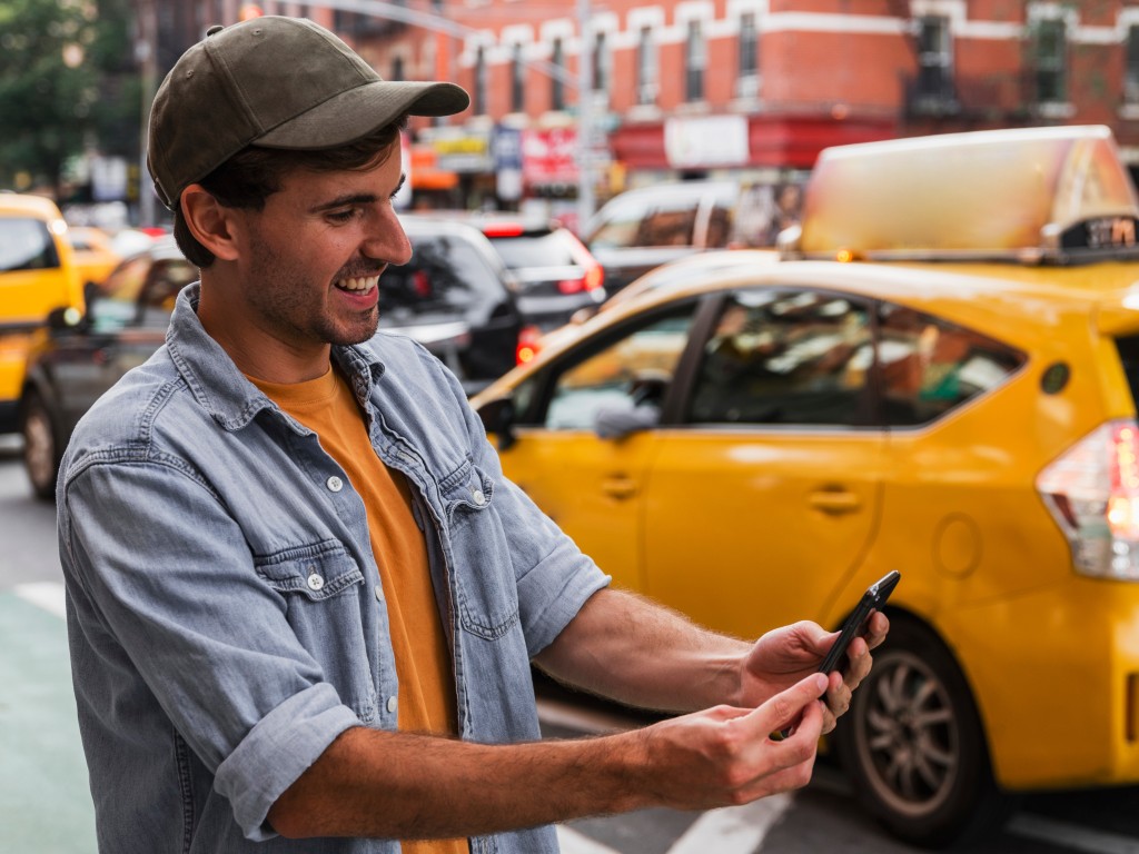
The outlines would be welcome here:
M 494 482 L 467 461 L 448 478 L 459 624 L 484 640 L 498 640 L 518 624 L 518 590 L 506 532 L 494 507 Z

